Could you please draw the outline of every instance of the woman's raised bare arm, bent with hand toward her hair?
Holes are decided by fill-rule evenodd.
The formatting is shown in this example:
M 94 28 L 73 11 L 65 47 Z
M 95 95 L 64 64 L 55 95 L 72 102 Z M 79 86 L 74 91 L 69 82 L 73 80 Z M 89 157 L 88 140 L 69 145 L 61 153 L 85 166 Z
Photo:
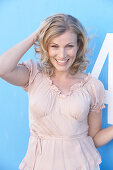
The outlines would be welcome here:
M 23 86 L 27 84 L 29 79 L 29 72 L 25 66 L 18 66 L 17 64 L 22 56 L 33 45 L 36 36 L 37 31 L 0 56 L 1 78 L 17 86 Z

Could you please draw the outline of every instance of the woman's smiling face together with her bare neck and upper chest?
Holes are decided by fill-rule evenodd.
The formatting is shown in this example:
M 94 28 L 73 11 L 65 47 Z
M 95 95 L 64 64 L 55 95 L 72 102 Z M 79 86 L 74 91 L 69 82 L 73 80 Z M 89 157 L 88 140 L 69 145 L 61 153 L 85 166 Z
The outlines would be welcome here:
M 77 34 L 69 30 L 53 38 L 48 45 L 49 59 L 55 68 L 55 74 L 51 79 L 63 93 L 68 93 L 73 84 L 86 76 L 80 72 L 74 76 L 70 74 L 78 48 Z

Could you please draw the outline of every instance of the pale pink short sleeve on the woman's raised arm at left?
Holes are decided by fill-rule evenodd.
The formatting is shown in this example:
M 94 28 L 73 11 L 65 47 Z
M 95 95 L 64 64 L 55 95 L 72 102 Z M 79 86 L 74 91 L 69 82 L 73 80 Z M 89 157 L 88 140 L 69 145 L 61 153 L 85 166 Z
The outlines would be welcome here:
M 25 62 L 19 63 L 18 65 L 24 65 L 28 71 L 29 71 L 29 81 L 25 86 L 22 86 L 22 88 L 25 91 L 28 91 L 29 87 L 31 86 L 31 84 L 33 83 L 36 75 L 40 72 L 40 65 L 38 62 L 36 62 L 33 59 L 29 59 Z

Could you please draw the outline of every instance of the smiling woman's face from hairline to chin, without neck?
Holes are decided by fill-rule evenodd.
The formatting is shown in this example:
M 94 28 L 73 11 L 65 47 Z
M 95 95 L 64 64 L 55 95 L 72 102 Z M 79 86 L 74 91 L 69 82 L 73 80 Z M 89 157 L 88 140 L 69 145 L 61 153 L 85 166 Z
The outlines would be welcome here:
M 78 51 L 77 34 L 66 31 L 53 38 L 48 45 L 48 54 L 55 71 L 68 72 Z

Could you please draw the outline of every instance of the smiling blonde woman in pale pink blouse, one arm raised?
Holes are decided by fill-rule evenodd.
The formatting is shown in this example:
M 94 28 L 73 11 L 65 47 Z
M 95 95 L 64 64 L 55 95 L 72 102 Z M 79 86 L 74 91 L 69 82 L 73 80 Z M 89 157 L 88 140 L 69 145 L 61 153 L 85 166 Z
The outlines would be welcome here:
M 41 64 L 18 64 L 33 44 Z M 99 169 L 96 147 L 113 138 L 113 127 L 101 129 L 104 87 L 84 73 L 87 45 L 81 23 L 56 14 L 0 57 L 1 78 L 29 95 L 30 139 L 20 170 Z

